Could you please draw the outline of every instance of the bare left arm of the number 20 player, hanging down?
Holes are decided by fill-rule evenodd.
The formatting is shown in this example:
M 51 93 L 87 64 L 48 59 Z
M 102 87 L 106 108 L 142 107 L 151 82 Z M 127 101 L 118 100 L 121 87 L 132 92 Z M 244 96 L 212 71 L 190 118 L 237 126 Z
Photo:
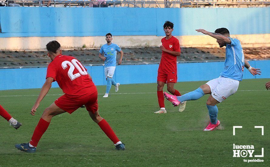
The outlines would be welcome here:
M 41 88 L 41 91 L 39 93 L 39 97 L 37 98 L 34 106 L 31 109 L 31 114 L 32 115 L 35 115 L 35 112 L 36 112 L 37 108 L 39 107 L 40 102 L 46 96 L 46 94 L 49 92 L 50 88 L 52 87 L 52 82 L 53 82 L 53 78 L 52 77 L 48 77 L 46 79 L 46 81 L 43 84 L 43 86 Z

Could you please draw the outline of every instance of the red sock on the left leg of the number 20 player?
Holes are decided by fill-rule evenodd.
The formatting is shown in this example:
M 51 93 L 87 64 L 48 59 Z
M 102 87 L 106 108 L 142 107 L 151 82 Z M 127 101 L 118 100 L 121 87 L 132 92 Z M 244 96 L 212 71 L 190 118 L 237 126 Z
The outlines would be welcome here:
M 45 133 L 47 128 L 49 127 L 49 122 L 45 121 L 44 119 L 40 118 L 38 125 L 35 127 L 35 131 L 33 133 L 32 139 L 30 144 L 33 146 L 37 146 L 39 143 L 40 138 Z

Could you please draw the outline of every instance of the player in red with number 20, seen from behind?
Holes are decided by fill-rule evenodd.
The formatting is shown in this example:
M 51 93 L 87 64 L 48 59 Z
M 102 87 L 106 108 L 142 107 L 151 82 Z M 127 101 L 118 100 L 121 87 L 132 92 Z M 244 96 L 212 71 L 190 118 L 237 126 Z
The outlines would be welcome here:
M 40 102 L 51 88 L 52 82 L 56 81 L 65 94 L 45 109 L 31 141 L 16 144 L 15 147 L 24 152 L 35 152 L 36 146 L 49 127 L 52 117 L 64 112 L 72 114 L 79 107 L 85 105 L 90 117 L 113 141 L 116 149 L 124 150 L 124 144 L 117 138 L 108 122 L 99 115 L 97 89 L 92 78 L 86 72 L 86 68 L 76 58 L 62 55 L 60 44 L 57 41 L 49 42 L 46 48 L 52 62 L 48 66 L 45 84 L 42 86 L 39 97 L 32 107 L 31 114 L 35 115 Z

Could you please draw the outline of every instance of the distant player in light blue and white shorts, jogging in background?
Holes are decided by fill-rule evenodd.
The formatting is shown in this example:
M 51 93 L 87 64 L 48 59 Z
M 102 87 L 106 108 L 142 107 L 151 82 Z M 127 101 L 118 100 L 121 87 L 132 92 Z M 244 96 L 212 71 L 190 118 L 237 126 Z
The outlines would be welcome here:
M 118 45 L 112 43 L 112 40 L 113 40 L 112 34 L 111 33 L 106 34 L 107 43 L 101 46 L 100 52 L 99 52 L 99 58 L 102 59 L 105 64 L 104 72 L 105 72 L 105 77 L 107 80 L 106 93 L 103 97 L 109 96 L 109 92 L 112 85 L 115 86 L 115 92 L 118 92 L 119 85 L 120 85 L 119 83 L 116 83 L 113 80 L 113 74 L 116 68 L 116 53 L 120 52 L 120 60 L 118 62 L 118 65 L 122 63 L 124 53 Z M 102 56 L 103 53 L 104 53 L 104 56 Z

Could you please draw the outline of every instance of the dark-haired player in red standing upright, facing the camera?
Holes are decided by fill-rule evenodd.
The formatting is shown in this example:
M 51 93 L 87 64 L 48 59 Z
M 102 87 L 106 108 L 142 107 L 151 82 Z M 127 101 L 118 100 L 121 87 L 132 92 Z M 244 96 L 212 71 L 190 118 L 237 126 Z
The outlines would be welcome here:
M 162 50 L 161 60 L 157 71 L 157 98 L 160 107 L 159 111 L 154 114 L 165 114 L 163 87 L 167 84 L 167 90 L 176 96 L 181 96 L 178 90 L 174 89 L 174 84 L 177 83 L 177 56 L 180 56 L 180 44 L 179 40 L 172 36 L 174 30 L 174 24 L 166 21 L 163 25 L 163 29 L 166 37 L 161 39 L 162 46 L 159 47 Z M 180 105 L 179 112 L 184 111 L 186 102 Z

